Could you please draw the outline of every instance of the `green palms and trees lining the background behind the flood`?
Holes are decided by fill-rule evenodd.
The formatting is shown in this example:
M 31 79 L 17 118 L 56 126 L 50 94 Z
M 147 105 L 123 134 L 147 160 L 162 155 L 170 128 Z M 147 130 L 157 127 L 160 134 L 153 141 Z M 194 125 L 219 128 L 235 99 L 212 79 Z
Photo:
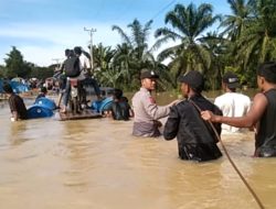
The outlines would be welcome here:
M 102 43 L 93 46 L 95 76 L 103 86 L 135 90 L 139 72 L 147 67 L 160 75 L 159 90 L 176 89 L 178 77 L 191 69 L 200 70 L 206 88 L 220 88 L 221 77 L 234 70 L 241 84 L 256 87 L 256 67 L 276 58 L 276 1 L 227 0 L 231 14 L 214 14 L 213 6 L 176 4 L 164 16 L 164 26 L 151 30 L 152 21 L 135 19 L 127 25 L 112 25 L 121 36 L 115 47 Z M 211 31 L 219 24 L 215 31 Z M 155 43 L 149 45 L 149 35 Z M 166 46 L 161 52 L 160 48 Z M 159 52 L 158 54 L 156 54 Z M 55 65 L 39 67 L 23 61 L 15 48 L 7 54 L 1 77 L 46 78 Z M 166 63 L 166 64 L 164 64 Z

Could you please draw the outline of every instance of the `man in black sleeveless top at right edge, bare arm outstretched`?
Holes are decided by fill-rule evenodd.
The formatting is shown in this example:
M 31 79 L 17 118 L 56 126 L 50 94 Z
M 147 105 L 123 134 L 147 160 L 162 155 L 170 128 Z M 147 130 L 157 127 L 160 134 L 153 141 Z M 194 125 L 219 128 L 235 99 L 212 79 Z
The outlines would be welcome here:
M 276 156 L 276 63 L 267 62 L 257 68 L 257 85 L 262 92 L 255 95 L 248 113 L 244 117 L 222 117 L 202 111 L 204 120 L 237 128 L 252 128 L 255 133 L 255 156 Z

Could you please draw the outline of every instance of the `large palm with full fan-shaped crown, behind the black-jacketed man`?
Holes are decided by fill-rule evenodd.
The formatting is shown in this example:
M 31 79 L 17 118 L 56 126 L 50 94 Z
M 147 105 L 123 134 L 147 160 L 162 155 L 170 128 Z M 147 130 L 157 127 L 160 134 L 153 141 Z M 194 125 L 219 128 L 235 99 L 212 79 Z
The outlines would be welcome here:
M 171 58 L 171 67 L 177 81 L 177 77 L 191 69 L 199 69 L 202 73 L 211 66 L 210 52 L 202 46 L 200 37 L 202 33 L 210 28 L 219 15 L 212 14 L 211 4 L 202 3 L 197 8 L 193 3 L 188 7 L 177 4 L 172 11 L 167 13 L 164 22 L 171 24 L 172 29 L 161 28 L 156 31 L 156 37 L 159 37 L 155 47 L 159 47 L 168 41 L 180 41 L 180 44 L 162 51 L 158 58 Z

